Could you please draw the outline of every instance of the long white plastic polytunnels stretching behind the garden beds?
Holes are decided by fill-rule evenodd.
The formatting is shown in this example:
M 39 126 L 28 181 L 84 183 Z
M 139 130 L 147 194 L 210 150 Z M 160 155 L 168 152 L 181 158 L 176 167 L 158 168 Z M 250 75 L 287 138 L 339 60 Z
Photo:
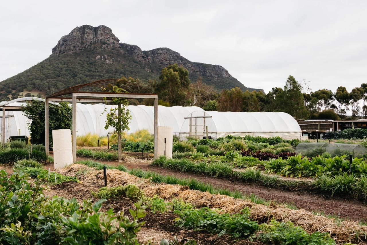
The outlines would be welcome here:
M 25 100 L 43 100 L 36 97 L 18 98 L 1 102 L 0 106 L 25 106 Z M 50 102 L 53 103 L 53 102 Z M 57 104 L 57 103 L 54 103 Z M 70 104 L 71 106 L 71 104 Z M 77 103 L 77 135 L 88 133 L 106 136 L 113 129 L 104 129 L 106 112 L 110 105 Z M 153 134 L 153 106 L 128 106 L 132 119 L 127 134 L 147 129 Z M 0 110 L 2 125 L 2 111 Z M 29 136 L 29 120 L 21 111 L 6 111 L 5 136 Z M 197 106 L 158 106 L 158 126 L 173 127 L 173 134 L 185 138 L 211 136 L 216 139 L 226 135 L 280 136 L 284 139 L 300 138 L 301 128 L 297 121 L 287 113 L 272 112 L 221 112 L 204 111 Z

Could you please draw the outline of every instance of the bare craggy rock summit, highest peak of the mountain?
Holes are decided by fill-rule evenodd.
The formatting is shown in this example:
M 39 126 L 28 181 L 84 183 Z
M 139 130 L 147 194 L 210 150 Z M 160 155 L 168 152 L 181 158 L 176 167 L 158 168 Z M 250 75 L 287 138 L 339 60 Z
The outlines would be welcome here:
M 105 25 L 93 27 L 82 25 L 74 28 L 68 35 L 63 36 L 52 49 L 51 56 L 59 54 L 72 54 L 93 45 L 99 44 L 102 49 L 116 47 L 120 49 L 119 39 L 112 30 Z

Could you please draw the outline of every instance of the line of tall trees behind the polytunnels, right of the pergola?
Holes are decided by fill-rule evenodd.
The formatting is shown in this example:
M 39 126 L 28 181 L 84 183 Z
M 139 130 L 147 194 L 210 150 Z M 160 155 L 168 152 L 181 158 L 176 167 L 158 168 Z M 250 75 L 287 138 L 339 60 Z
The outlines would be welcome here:
M 296 119 L 365 118 L 367 116 L 367 84 L 350 92 L 339 86 L 335 92 L 319 89 L 308 92 L 305 81 L 289 76 L 283 88 L 263 91 L 242 91 L 239 88 L 217 92 L 199 78 L 189 79 L 189 72 L 178 64 L 168 65 L 161 71 L 160 81 L 150 81 L 166 106 L 199 106 L 207 111 L 271 111 L 286 112 Z M 305 92 L 306 91 L 306 92 Z M 349 113 L 349 116 L 348 116 Z

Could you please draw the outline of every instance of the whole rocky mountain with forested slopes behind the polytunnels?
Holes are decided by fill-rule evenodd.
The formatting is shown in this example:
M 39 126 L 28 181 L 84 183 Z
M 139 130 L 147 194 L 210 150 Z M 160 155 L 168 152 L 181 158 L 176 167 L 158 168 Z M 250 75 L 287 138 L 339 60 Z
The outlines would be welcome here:
M 63 36 L 50 57 L 0 82 L 0 95 L 3 98 L 16 98 L 28 92 L 49 95 L 77 84 L 123 76 L 159 80 L 162 68 L 174 63 L 188 69 L 191 81 L 201 77 L 218 91 L 234 87 L 254 90 L 220 65 L 195 63 L 165 47 L 143 51 L 136 45 L 120 43 L 107 26 L 83 25 Z

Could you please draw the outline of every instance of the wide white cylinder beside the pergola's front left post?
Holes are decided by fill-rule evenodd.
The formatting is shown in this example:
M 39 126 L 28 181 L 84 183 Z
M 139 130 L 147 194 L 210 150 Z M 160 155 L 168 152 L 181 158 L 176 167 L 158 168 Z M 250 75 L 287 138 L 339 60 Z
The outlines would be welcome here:
M 70 129 L 52 130 L 54 167 L 63 168 L 73 163 L 73 147 Z

